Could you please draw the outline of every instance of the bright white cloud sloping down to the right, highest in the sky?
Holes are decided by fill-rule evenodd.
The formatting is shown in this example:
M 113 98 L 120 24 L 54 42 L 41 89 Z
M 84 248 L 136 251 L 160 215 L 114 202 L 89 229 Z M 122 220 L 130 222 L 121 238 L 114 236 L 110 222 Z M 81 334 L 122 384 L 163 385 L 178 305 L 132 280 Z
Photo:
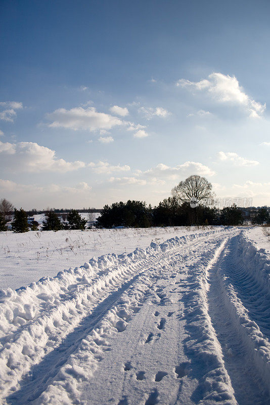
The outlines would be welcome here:
M 243 107 L 253 118 L 258 118 L 266 108 L 266 104 L 256 102 L 244 92 L 235 76 L 211 73 L 208 79 L 200 80 L 200 82 L 180 79 L 176 86 L 206 91 L 210 97 L 220 103 L 231 103 Z

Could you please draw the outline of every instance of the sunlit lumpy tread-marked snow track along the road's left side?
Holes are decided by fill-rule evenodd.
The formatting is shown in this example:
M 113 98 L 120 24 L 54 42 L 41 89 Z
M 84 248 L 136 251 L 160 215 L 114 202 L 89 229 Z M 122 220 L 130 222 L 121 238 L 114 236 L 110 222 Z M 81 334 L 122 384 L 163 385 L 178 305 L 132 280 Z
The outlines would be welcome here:
M 72 328 L 70 325 L 70 321 L 67 318 L 68 316 L 73 315 L 73 313 L 67 313 L 67 315 L 65 314 L 65 318 L 63 316 L 63 319 L 66 321 L 67 323 L 67 332 L 65 333 L 65 331 L 61 330 L 61 334 L 62 335 L 62 339 L 65 339 L 66 335 L 69 333 L 72 333 L 72 330 L 74 329 L 74 327 L 76 327 L 79 323 L 79 321 L 81 321 L 81 319 L 83 318 L 83 315 L 80 315 L 80 313 L 83 314 L 83 311 L 81 311 L 82 309 L 82 303 L 83 300 L 86 301 L 86 306 L 84 308 L 84 310 L 93 310 L 93 306 L 94 308 L 100 304 L 100 302 L 104 299 L 104 297 L 106 297 L 107 294 L 110 294 L 113 288 L 117 288 L 117 286 L 121 286 L 122 283 L 124 281 L 129 280 L 134 273 L 143 273 L 145 271 L 147 271 L 148 269 L 150 269 L 151 267 L 154 268 L 157 265 L 160 265 L 160 261 L 161 260 L 169 260 L 172 257 L 175 256 L 180 256 L 183 257 L 185 254 L 188 254 L 189 252 L 191 252 L 192 250 L 194 250 L 194 247 L 200 245 L 200 244 L 204 244 L 205 240 L 208 240 L 209 235 L 216 235 L 219 233 L 224 233 L 226 232 L 226 229 L 223 230 L 219 230 L 217 232 L 215 231 L 211 231 L 211 232 L 206 232 L 206 233 L 202 233 L 202 234 L 195 234 L 195 235 L 190 235 L 187 237 L 187 239 L 183 239 L 181 240 L 181 238 L 175 240 L 175 239 L 170 239 L 171 241 L 173 241 L 172 246 L 170 240 L 164 242 L 161 246 L 164 246 L 164 250 L 160 249 L 160 247 L 158 245 L 156 245 L 157 250 L 152 249 L 151 253 L 152 254 L 148 254 L 148 256 L 146 256 L 145 253 L 142 254 L 142 257 L 137 257 L 138 253 L 140 254 L 140 250 L 136 250 L 134 251 L 134 254 L 131 254 L 131 260 L 129 260 L 129 256 L 125 256 L 123 263 L 121 263 L 119 266 L 116 267 L 112 267 L 112 269 L 110 269 L 108 275 L 105 274 L 105 276 L 101 276 L 100 271 L 99 271 L 99 275 L 100 278 L 95 278 L 94 280 L 94 284 L 87 284 L 87 278 L 85 279 L 85 274 L 81 274 L 82 271 L 80 269 L 75 269 L 75 274 L 79 275 L 77 284 L 72 286 L 72 290 L 71 292 L 69 291 L 69 293 L 66 296 L 66 299 L 64 299 L 64 297 L 62 297 L 62 302 L 56 302 L 56 304 L 49 306 L 49 310 L 42 310 L 42 312 L 38 315 L 38 317 L 35 317 L 32 321 L 29 321 L 25 327 L 20 328 L 19 333 L 15 334 L 15 339 L 12 342 L 12 339 L 9 339 L 9 342 L 7 343 L 6 347 L 4 346 L 4 350 L 2 350 L 2 352 L 5 352 L 5 355 L 7 356 L 6 352 L 10 351 L 11 355 L 10 357 L 12 358 L 12 366 L 10 366 L 9 360 L 7 362 L 7 367 L 10 368 L 12 370 L 12 375 L 9 375 L 9 378 L 7 381 L 5 381 L 4 384 L 2 384 L 3 386 L 3 395 L 7 395 L 7 391 L 9 389 L 9 387 L 13 386 L 13 389 L 15 388 L 15 385 L 18 383 L 18 380 L 22 377 L 22 375 L 24 375 L 25 373 L 27 373 L 31 367 L 33 367 L 33 365 L 35 363 L 37 363 L 38 359 L 39 361 L 41 361 L 41 358 L 44 357 L 44 355 L 46 355 L 46 352 L 44 351 L 44 348 L 46 348 L 47 350 L 51 351 L 52 348 L 51 347 L 46 347 L 46 343 L 47 343 L 47 332 L 46 332 L 46 328 L 48 325 L 48 321 L 50 320 L 51 323 L 54 323 L 54 327 L 55 327 L 55 334 L 56 336 L 54 337 L 53 335 L 53 331 L 50 332 L 50 334 L 52 336 L 50 336 L 51 341 L 54 341 L 54 339 L 57 341 L 59 340 L 59 328 L 58 328 L 58 324 L 55 324 L 54 321 L 54 317 L 56 317 L 56 321 L 57 318 L 59 317 L 59 313 L 61 312 L 61 310 L 65 309 L 68 305 L 72 305 L 71 310 L 73 312 L 75 312 L 76 316 L 73 317 L 73 322 L 74 324 L 72 324 Z M 185 244 L 185 240 L 187 240 L 187 243 Z M 184 243 L 183 243 L 184 241 Z M 154 244 L 155 245 L 155 244 Z M 181 250 L 181 252 L 179 252 L 179 250 Z M 142 250 L 142 252 L 144 252 Z M 170 253 L 172 252 L 172 253 Z M 135 260 L 132 260 L 132 257 L 136 257 Z M 139 258 L 139 260 L 138 260 Z M 109 257 L 109 260 L 112 260 L 113 258 Z M 115 258 L 114 258 L 115 259 Z M 141 259 L 141 260 L 140 260 Z M 101 258 L 101 260 L 103 261 L 103 257 Z M 129 260 L 128 264 L 125 264 L 125 260 Z M 112 265 L 115 266 L 114 263 L 112 263 Z M 69 271 L 66 272 L 67 275 L 69 276 Z M 104 270 L 102 270 L 102 273 L 104 273 Z M 87 274 L 87 273 L 86 273 Z M 61 276 L 62 277 L 62 276 Z M 60 279 L 61 279 L 60 277 Z M 81 282 L 83 281 L 84 284 L 81 284 Z M 47 280 L 46 280 L 47 282 Z M 55 280 L 53 280 L 54 284 L 55 284 Z M 94 286 L 94 287 L 93 287 Z M 30 290 L 32 292 L 32 290 Z M 75 298 L 73 298 L 73 293 L 75 292 Z M 25 294 L 25 291 L 23 291 L 21 294 Z M 88 295 L 92 294 L 92 302 L 91 302 L 91 306 L 89 308 L 88 304 L 87 304 L 87 300 L 88 300 Z M 53 306 L 53 308 L 51 309 L 50 307 Z M 61 309 L 63 308 L 63 309 Z M 52 317 L 52 319 L 50 319 Z M 37 336 L 34 336 L 34 330 L 33 327 L 38 326 L 38 331 L 37 331 Z M 59 325 L 60 326 L 60 325 Z M 62 327 L 62 325 L 61 325 Z M 40 331 L 41 329 L 41 331 Z M 44 329 L 44 331 L 43 331 Z M 43 332 L 42 332 L 43 331 Z M 44 336 L 42 336 L 42 339 L 40 339 L 41 334 L 43 333 Z M 33 347 L 31 348 L 30 352 L 24 352 L 24 347 L 27 346 L 27 341 L 30 338 L 30 340 L 32 340 L 32 345 Z M 34 339 L 33 339 L 34 338 Z M 23 343 L 25 340 L 25 343 Z M 11 342 L 11 343 L 10 343 Z M 44 344 L 44 347 L 40 346 L 40 343 Z M 61 342 L 57 342 L 56 344 L 54 344 L 54 348 L 53 350 L 55 350 L 55 348 L 61 344 Z M 18 351 L 18 346 L 22 346 L 22 352 L 19 353 L 18 355 L 21 356 L 20 361 L 19 358 L 14 359 L 14 350 Z M 13 349 L 14 347 L 14 349 Z M 36 348 L 38 349 L 38 353 L 36 352 Z M 41 353 L 41 351 L 43 351 Z M 39 358 L 38 358 L 39 357 Z M 40 358 L 41 357 L 41 358 Z M 23 361 L 22 361 L 23 360 Z M 5 360 L 4 360 L 5 361 Z M 15 365 L 14 365 L 15 363 Z M 16 370 L 16 371 L 15 371 Z M 22 381 L 23 383 L 24 381 Z

